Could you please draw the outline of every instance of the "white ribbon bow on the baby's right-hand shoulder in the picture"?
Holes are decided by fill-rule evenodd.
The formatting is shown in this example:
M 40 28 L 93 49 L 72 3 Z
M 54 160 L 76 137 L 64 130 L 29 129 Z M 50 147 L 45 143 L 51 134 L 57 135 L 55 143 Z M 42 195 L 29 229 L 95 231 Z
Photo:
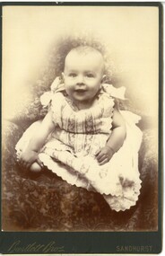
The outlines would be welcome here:
M 101 85 L 102 85 L 102 91 L 104 93 L 108 93 L 111 97 L 114 97 L 120 100 L 126 100 L 125 98 L 126 87 L 121 86 L 119 88 L 116 88 L 112 84 L 101 84 Z

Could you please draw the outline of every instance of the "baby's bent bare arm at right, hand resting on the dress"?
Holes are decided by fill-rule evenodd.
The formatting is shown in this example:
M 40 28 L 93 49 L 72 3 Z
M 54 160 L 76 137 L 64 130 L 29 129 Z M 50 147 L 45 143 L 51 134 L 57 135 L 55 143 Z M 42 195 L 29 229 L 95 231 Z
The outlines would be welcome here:
M 123 145 L 126 138 L 126 124 L 120 112 L 115 108 L 112 122 L 112 132 L 106 146 L 96 152 L 100 165 L 108 163 L 111 157 Z

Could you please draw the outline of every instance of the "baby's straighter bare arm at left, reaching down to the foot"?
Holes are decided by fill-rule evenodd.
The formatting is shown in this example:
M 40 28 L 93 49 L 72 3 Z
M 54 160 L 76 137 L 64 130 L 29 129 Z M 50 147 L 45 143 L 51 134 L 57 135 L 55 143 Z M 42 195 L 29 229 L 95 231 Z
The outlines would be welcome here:
M 31 137 L 28 146 L 20 156 L 19 163 L 21 163 L 23 167 L 28 169 L 34 162 L 42 165 L 38 157 L 39 149 L 44 145 L 45 140 L 54 128 L 55 124 L 52 121 L 52 114 L 48 112 L 46 117 L 42 120 L 39 129 L 37 129 L 33 137 Z

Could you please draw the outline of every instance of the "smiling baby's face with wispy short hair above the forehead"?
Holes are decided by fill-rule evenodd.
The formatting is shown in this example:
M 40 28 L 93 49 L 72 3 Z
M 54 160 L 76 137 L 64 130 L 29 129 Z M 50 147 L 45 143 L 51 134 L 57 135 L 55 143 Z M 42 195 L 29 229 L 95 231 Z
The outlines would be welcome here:
M 71 52 L 65 58 L 65 91 L 74 102 L 89 102 L 100 89 L 104 62 L 100 54 Z

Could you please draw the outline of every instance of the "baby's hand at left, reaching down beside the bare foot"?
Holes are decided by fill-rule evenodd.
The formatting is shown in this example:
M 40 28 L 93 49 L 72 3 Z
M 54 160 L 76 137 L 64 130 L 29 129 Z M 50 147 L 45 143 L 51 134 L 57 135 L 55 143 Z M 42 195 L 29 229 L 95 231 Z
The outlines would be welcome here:
M 43 163 L 39 160 L 39 153 L 34 150 L 25 149 L 18 158 L 18 162 L 25 168 L 29 169 L 30 165 L 34 162 L 39 163 L 42 167 Z

